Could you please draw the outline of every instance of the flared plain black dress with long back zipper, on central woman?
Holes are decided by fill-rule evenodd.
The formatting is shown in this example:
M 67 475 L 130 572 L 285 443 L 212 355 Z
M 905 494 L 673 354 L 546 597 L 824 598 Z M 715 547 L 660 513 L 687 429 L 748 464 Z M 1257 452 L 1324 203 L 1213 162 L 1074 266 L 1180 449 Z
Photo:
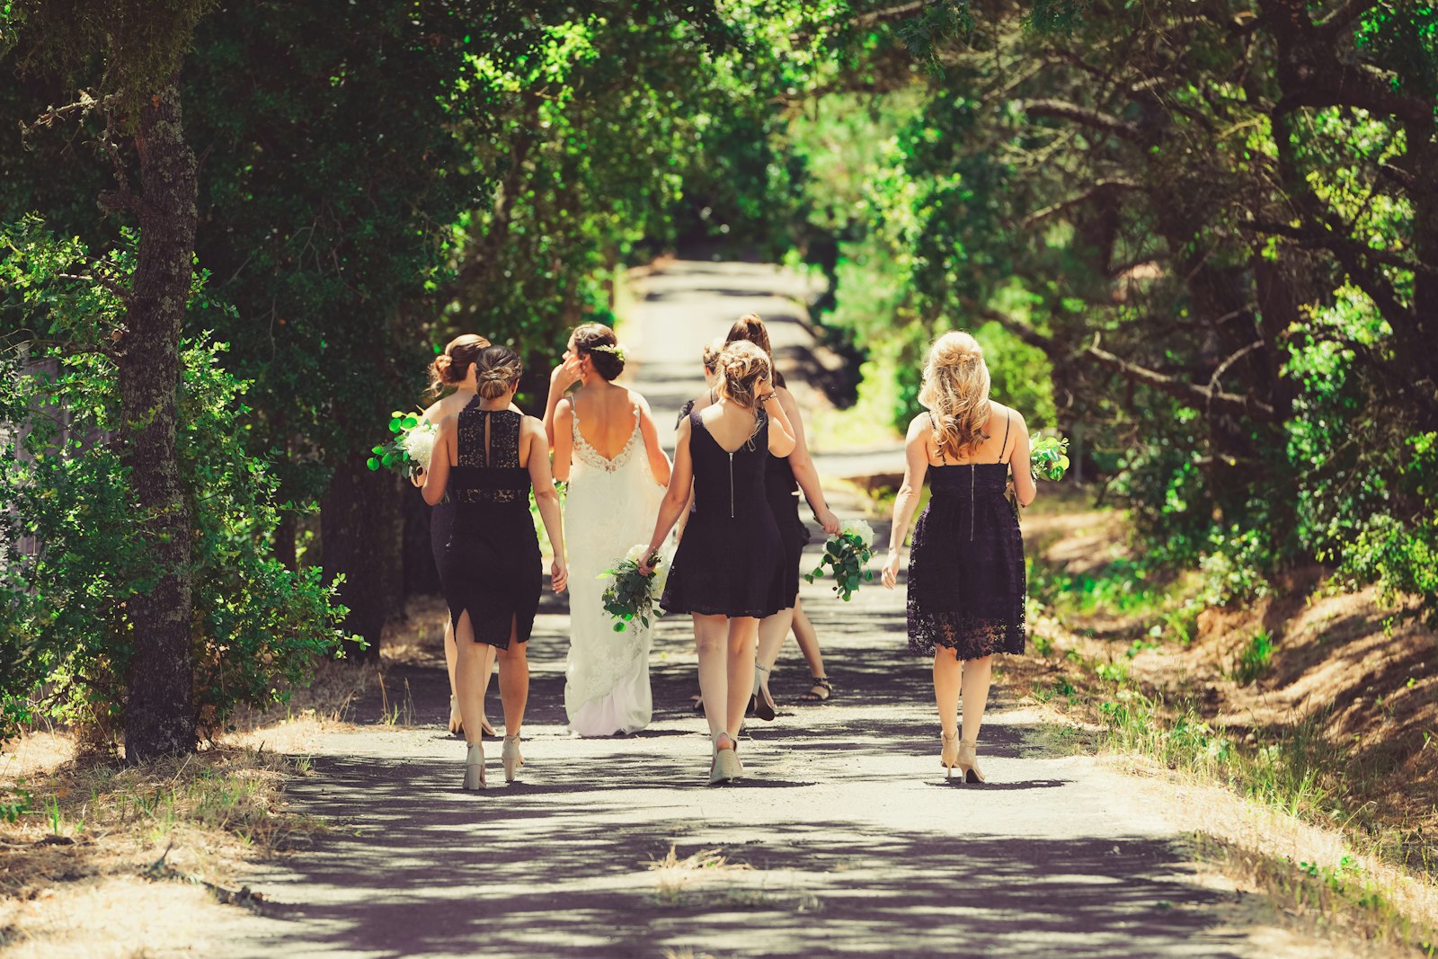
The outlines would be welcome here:
M 762 410 L 752 437 L 729 453 L 689 414 L 695 510 L 674 554 L 660 605 L 667 612 L 774 615 L 784 608 L 784 545 L 765 490 L 769 420 Z M 792 602 L 792 601 L 791 601 Z

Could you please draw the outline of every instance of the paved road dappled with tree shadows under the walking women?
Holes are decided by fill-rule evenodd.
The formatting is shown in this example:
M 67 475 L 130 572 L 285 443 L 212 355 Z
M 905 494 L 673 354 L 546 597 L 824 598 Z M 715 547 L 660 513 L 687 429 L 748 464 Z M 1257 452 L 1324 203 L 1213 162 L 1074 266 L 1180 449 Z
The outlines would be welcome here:
M 684 265 L 651 277 L 626 334 L 659 408 L 693 393 L 695 344 L 782 298 L 772 270 Z M 802 326 L 778 324 L 802 347 Z M 811 545 L 811 549 L 815 548 Z M 1087 758 L 1031 745 L 1034 722 L 995 693 L 986 786 L 939 769 L 926 663 L 905 651 L 903 594 L 851 604 L 823 584 L 804 601 L 838 693 L 797 706 L 792 648 L 782 713 L 741 746 L 749 778 L 706 786 L 703 720 L 689 712 L 687 624 L 664 620 L 656 720 L 614 739 L 562 729 L 565 615 L 546 598 L 522 781 L 457 786 L 463 748 L 443 735 L 439 667 L 395 670 L 424 725 L 324 739 L 295 808 L 339 828 L 249 878 L 276 906 L 217 930 L 220 956 L 1238 956 L 1257 955 L 1219 894 L 1201 887 L 1162 809 Z M 787 703 L 787 705 L 785 705 Z M 498 715 L 492 703 L 490 715 Z M 378 716 L 361 703 L 360 717 Z M 498 752 L 498 749 L 495 749 Z M 748 868 L 654 870 L 722 850 Z M 1231 894 L 1224 894 L 1231 900 Z

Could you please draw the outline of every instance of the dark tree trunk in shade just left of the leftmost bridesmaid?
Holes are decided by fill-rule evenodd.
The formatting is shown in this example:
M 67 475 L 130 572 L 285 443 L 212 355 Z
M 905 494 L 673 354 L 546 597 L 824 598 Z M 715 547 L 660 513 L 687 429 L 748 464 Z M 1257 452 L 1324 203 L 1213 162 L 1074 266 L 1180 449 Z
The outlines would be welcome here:
M 339 602 L 349 608 L 344 628 L 370 644 L 347 648 L 347 656 L 378 660 L 384 624 L 403 608 L 398 512 L 395 477 L 370 470 L 362 454 L 335 469 L 319 503 L 325 578 L 344 574 Z

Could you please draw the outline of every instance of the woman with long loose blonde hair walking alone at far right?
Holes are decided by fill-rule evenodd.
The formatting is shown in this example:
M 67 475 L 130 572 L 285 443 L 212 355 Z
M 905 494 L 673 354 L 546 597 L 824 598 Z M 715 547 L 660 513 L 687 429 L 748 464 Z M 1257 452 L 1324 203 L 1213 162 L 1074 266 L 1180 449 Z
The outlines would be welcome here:
M 958 766 L 965 782 L 985 782 L 976 752 L 994 654 L 1024 651 L 1024 538 L 1004 486 L 1012 467 L 1020 505 L 1034 502 L 1028 428 L 1017 411 L 989 400 L 984 349 L 968 334 L 943 334 L 933 344 L 919 403 L 929 411 L 909 424 L 883 582 L 894 588 L 903 536 L 932 474 L 909 558 L 909 648 L 933 657 L 939 763 L 951 778 Z

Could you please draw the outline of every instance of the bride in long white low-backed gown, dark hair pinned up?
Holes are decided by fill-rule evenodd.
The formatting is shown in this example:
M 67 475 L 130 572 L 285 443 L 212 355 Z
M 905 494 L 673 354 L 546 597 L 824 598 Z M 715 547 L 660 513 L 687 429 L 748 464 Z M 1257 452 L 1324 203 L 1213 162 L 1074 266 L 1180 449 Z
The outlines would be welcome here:
M 624 349 L 614 331 L 584 324 L 549 378 L 545 427 L 554 476 L 568 480 L 564 538 L 569 551 L 569 659 L 564 709 L 581 736 L 631 733 L 649 725 L 649 630 L 615 633 L 601 574 L 649 539 L 669 485 L 669 457 L 644 397 L 614 384 Z M 574 394 L 565 391 L 580 382 Z

